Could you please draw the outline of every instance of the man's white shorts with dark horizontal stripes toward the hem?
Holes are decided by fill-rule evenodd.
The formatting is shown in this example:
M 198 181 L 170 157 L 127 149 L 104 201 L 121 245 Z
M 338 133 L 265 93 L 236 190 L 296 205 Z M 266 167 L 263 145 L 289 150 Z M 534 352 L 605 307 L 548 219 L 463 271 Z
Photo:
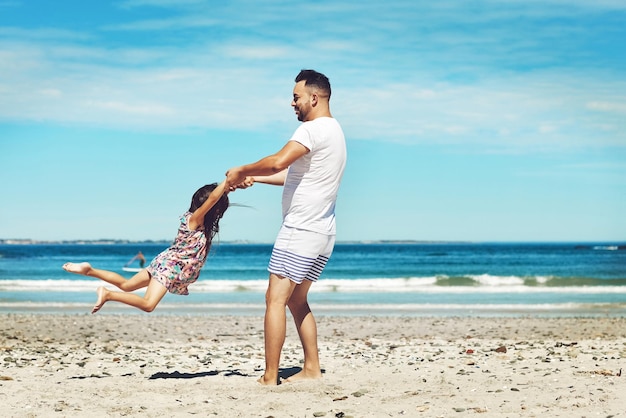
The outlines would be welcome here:
M 297 284 L 316 282 L 335 246 L 334 235 L 284 226 L 280 229 L 267 270 Z

